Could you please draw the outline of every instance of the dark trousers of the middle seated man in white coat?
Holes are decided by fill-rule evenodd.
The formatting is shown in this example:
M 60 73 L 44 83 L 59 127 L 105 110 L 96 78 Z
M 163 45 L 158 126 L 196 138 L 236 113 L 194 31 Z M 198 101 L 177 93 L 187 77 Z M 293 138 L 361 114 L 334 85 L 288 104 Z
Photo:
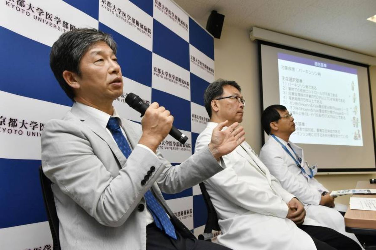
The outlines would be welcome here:
M 299 226 L 312 237 L 317 250 L 361 250 L 361 247 L 343 234 L 321 226 Z

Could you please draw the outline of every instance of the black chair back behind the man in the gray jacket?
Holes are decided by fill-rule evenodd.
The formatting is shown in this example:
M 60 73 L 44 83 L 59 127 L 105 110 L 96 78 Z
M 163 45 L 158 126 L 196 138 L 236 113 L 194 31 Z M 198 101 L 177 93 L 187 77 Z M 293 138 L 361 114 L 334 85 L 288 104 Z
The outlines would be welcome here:
M 39 167 L 39 179 L 41 180 L 44 207 L 46 209 L 48 222 L 50 224 L 53 250 L 60 250 L 59 218 L 58 214 L 56 213 L 55 199 L 53 198 L 53 192 L 51 189 L 52 182 L 44 175 L 42 166 Z

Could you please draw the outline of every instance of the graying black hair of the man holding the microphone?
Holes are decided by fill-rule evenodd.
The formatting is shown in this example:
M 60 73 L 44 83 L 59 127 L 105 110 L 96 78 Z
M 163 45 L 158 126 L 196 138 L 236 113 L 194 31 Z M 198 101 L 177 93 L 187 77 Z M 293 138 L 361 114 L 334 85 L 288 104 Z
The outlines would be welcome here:
M 69 70 L 80 75 L 80 61 L 82 56 L 95 43 L 103 41 L 116 55 L 116 42 L 111 35 L 95 28 L 79 28 L 63 33 L 53 43 L 50 52 L 50 67 L 56 80 L 67 96 L 74 100 L 73 88 L 63 78 L 64 70 Z

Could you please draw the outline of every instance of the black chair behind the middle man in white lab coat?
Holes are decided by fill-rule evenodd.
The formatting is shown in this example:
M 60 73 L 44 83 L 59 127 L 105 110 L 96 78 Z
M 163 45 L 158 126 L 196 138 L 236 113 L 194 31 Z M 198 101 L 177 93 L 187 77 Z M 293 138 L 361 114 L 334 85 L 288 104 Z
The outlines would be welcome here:
M 212 230 L 220 231 L 221 229 L 218 225 L 217 213 L 215 212 L 209 194 L 206 191 L 205 184 L 200 183 L 199 185 L 205 201 L 206 209 L 208 210 L 208 219 L 206 220 L 204 233 L 199 235 L 199 240 L 211 241 L 211 239 L 214 237 Z

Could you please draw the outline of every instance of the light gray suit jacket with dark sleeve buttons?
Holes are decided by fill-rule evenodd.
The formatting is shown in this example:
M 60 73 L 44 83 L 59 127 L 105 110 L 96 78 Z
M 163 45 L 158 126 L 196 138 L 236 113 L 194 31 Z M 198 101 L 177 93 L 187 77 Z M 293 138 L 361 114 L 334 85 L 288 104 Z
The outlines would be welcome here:
M 168 208 L 161 191 L 180 192 L 223 167 L 208 147 L 173 167 L 161 153 L 136 146 L 142 133 L 139 124 L 123 119 L 122 125 L 133 148 L 128 159 L 106 130 L 76 105 L 62 120 L 50 120 L 44 127 L 42 167 L 53 182 L 63 250 L 146 249 L 143 195 L 150 188 L 177 231 L 194 237 Z

